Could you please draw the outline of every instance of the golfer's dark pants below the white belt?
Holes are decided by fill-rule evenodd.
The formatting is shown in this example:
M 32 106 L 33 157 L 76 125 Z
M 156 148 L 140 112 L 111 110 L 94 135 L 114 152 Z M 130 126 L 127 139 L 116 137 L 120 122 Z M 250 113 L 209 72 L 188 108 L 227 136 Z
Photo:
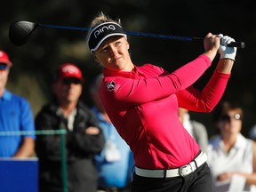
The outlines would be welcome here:
M 202 164 L 186 177 L 146 178 L 133 174 L 132 192 L 212 192 L 208 164 Z

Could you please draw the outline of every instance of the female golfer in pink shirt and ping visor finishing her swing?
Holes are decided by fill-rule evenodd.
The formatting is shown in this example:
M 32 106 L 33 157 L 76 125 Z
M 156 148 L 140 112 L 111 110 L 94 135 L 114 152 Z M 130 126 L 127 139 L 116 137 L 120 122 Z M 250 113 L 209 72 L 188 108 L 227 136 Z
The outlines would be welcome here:
M 92 20 L 87 43 L 103 66 L 100 98 L 134 155 L 132 192 L 212 191 L 207 156 L 180 123 L 178 107 L 212 111 L 233 67 L 236 48 L 227 46 L 233 41 L 208 33 L 205 51 L 169 73 L 152 64 L 139 67 L 132 62 L 119 21 L 102 12 Z M 218 50 L 218 65 L 200 92 L 191 85 L 211 66 Z

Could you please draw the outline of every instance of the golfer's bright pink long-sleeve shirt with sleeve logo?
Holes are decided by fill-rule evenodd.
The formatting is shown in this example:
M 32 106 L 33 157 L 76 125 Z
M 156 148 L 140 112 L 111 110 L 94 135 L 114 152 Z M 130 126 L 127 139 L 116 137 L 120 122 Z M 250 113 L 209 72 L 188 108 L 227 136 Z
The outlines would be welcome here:
M 201 55 L 172 73 L 151 64 L 131 72 L 104 68 L 100 98 L 136 166 L 172 169 L 195 158 L 200 148 L 180 123 L 178 107 L 212 111 L 230 74 L 214 71 L 202 92 L 191 86 L 210 66 L 211 60 Z

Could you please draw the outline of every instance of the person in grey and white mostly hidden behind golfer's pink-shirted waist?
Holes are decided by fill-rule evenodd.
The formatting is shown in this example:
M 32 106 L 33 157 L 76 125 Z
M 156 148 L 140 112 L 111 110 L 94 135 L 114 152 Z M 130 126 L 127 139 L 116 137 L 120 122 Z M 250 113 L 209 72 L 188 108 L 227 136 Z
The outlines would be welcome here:
M 179 108 L 178 115 L 188 133 L 196 140 L 200 148 L 206 152 L 208 146 L 208 133 L 204 124 L 191 119 L 187 108 Z

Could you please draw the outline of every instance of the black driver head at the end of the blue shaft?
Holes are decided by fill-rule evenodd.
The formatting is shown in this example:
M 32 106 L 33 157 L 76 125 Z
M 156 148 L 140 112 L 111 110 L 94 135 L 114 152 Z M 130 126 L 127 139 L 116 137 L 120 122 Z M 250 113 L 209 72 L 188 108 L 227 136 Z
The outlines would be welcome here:
M 13 22 L 9 28 L 9 38 L 17 46 L 26 44 L 38 24 L 29 21 Z

